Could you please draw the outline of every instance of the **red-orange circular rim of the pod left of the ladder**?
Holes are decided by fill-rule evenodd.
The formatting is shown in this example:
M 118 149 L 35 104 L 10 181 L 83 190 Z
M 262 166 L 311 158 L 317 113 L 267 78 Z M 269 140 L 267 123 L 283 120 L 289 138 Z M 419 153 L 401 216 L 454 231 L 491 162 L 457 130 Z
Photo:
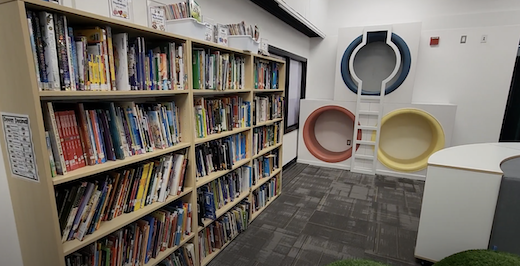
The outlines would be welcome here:
M 305 124 L 303 126 L 303 142 L 305 143 L 307 150 L 309 150 L 309 152 L 312 155 L 314 155 L 314 157 L 316 157 L 317 159 L 328 163 L 341 162 L 352 156 L 352 148 L 349 148 L 341 152 L 327 150 L 318 142 L 318 139 L 316 138 L 316 134 L 314 132 L 314 129 L 316 127 L 316 121 L 322 114 L 326 112 L 340 112 L 352 121 L 352 125 L 354 124 L 355 116 L 349 110 L 337 105 L 322 106 L 314 110 L 309 115 L 309 117 L 307 117 L 307 120 L 305 121 Z M 361 140 L 361 130 L 358 131 L 357 139 Z M 356 149 L 357 148 L 359 148 L 359 145 L 358 147 L 356 147 Z

